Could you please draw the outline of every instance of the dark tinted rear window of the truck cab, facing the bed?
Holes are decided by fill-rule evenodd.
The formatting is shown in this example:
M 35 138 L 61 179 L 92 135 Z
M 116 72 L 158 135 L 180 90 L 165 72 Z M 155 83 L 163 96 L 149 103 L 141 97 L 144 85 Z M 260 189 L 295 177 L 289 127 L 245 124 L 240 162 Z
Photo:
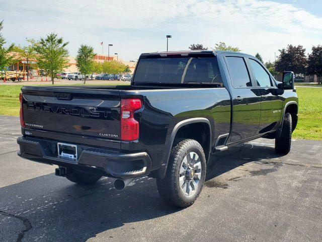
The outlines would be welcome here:
M 222 83 L 217 58 L 155 57 L 141 58 L 133 82 L 165 84 Z

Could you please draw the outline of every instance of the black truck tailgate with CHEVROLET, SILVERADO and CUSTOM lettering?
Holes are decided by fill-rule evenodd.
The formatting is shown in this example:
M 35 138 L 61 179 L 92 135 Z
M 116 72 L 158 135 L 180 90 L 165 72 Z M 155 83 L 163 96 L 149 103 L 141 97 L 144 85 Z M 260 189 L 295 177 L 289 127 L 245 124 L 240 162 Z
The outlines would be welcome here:
M 111 141 L 120 148 L 120 91 L 67 87 L 23 87 L 26 131 L 48 139 Z M 26 133 L 28 135 L 28 132 Z M 68 138 L 67 138 L 68 137 Z M 76 139 L 71 139 L 74 137 Z M 108 143 L 106 143 L 108 144 Z

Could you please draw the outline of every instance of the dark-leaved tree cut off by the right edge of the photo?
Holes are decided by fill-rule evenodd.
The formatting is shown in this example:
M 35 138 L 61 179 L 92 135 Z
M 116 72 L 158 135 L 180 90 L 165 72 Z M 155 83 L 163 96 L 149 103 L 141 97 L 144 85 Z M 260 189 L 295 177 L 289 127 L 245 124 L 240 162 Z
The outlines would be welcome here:
M 318 82 L 321 83 L 322 78 L 322 46 L 312 46 L 312 53 L 308 55 L 307 74 L 316 75 Z

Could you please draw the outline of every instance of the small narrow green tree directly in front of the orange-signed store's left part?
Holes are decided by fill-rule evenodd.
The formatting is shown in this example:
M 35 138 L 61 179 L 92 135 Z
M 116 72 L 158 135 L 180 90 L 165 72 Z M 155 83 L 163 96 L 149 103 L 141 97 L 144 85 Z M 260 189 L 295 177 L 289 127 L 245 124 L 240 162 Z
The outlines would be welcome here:
M 94 48 L 86 44 L 82 44 L 77 51 L 76 66 L 85 77 L 84 84 L 86 83 L 86 75 L 93 72 L 94 69 Z

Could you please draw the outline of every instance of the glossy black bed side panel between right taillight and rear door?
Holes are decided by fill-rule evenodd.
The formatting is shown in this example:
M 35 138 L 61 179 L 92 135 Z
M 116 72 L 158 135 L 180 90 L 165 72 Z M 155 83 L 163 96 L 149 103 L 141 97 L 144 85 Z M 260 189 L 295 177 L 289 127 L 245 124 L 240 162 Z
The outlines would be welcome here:
M 151 169 L 159 168 L 167 155 L 165 144 L 176 124 L 182 120 L 205 117 L 211 124 L 211 147 L 220 135 L 230 129 L 230 97 L 225 88 L 121 91 L 120 96 L 142 95 L 139 142 L 121 142 L 127 151 L 148 151 L 153 162 Z M 157 162 L 156 162 L 157 161 Z

